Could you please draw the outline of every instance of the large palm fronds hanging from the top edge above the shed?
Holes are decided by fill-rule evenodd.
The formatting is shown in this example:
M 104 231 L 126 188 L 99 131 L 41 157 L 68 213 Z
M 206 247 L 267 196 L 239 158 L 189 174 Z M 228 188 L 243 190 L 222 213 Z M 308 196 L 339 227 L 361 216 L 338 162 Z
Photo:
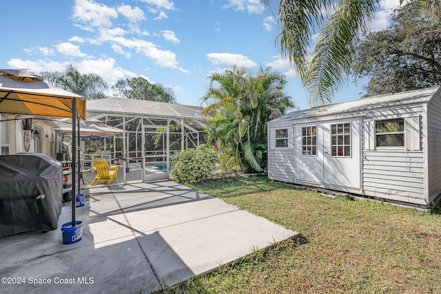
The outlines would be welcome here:
M 269 0 L 260 0 L 269 7 Z M 404 0 L 396 0 L 402 3 Z M 424 1 L 434 25 L 440 25 L 441 0 Z M 369 28 L 379 0 L 280 0 L 280 52 L 298 71 L 309 103 L 325 105 L 347 81 L 362 32 Z M 318 33 L 318 34 L 316 34 Z M 314 52 L 309 47 L 317 36 Z

